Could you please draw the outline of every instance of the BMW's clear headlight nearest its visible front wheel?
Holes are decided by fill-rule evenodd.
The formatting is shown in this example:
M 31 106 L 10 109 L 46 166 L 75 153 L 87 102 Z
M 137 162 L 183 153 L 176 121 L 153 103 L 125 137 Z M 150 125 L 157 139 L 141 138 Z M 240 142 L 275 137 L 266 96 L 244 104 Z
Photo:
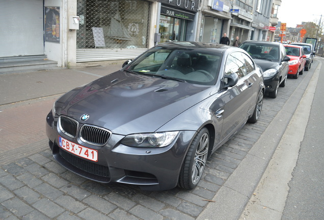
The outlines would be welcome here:
M 143 148 L 165 147 L 175 140 L 178 133 L 179 131 L 130 134 L 124 137 L 121 144 Z

